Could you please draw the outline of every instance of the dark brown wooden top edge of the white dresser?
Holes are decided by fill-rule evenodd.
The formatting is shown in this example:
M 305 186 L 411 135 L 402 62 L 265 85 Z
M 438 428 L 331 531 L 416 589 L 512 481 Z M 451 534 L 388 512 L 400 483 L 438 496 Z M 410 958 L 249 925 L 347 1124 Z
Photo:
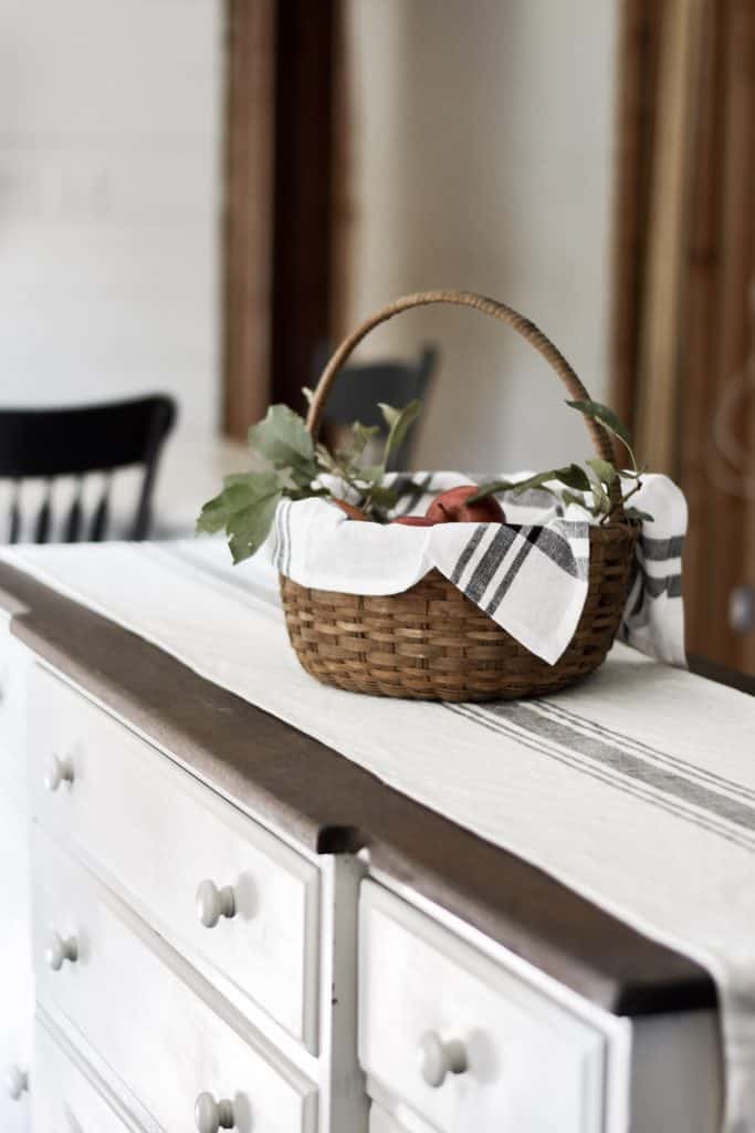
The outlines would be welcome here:
M 37 656 L 300 844 L 368 847 L 385 874 L 615 1014 L 717 1006 L 688 957 L 7 563 L 0 604 Z

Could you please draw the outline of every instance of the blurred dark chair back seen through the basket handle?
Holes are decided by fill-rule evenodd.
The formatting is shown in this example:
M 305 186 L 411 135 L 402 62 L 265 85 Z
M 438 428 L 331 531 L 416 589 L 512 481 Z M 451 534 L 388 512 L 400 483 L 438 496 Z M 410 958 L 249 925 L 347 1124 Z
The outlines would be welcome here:
M 325 368 L 331 351 L 320 347 L 315 357 L 316 377 Z M 359 420 L 362 425 L 377 425 L 381 434 L 386 434 L 386 425 L 378 408 L 378 401 L 387 402 L 397 408 L 407 404 L 415 398 L 424 401 L 430 392 L 435 372 L 438 365 L 438 351 L 435 347 L 423 347 L 412 361 L 363 361 L 353 363 L 338 374 L 323 420 L 325 436 L 333 440 L 333 434 L 342 426 Z M 412 426 L 400 449 L 393 454 L 389 469 L 402 471 L 411 467 L 417 428 Z

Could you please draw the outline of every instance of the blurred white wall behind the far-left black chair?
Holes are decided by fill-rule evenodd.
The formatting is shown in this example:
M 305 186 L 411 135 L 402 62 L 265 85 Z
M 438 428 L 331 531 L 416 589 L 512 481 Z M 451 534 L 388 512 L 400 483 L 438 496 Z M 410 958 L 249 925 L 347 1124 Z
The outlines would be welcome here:
M 218 415 L 222 0 L 0 0 L 0 404 Z

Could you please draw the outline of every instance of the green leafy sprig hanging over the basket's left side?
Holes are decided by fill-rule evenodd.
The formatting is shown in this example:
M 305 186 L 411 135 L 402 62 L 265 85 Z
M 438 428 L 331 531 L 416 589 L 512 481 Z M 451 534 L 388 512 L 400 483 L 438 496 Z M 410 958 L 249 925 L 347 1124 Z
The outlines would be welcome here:
M 304 390 L 304 395 L 311 391 Z M 368 443 L 380 432 L 378 426 L 355 421 L 346 443 L 334 452 L 316 443 L 303 417 L 288 406 L 271 406 L 267 416 L 248 433 L 249 446 L 269 466 L 264 471 L 226 476 L 223 491 L 209 500 L 197 520 L 197 531 L 213 535 L 225 530 L 233 561 L 239 563 L 254 555 L 269 535 L 275 511 L 282 499 L 308 500 L 316 496 L 336 499 L 323 483 L 329 474 L 348 485 L 360 501 L 369 519 L 384 521 L 395 506 L 398 494 L 384 484 L 386 468 L 403 443 L 420 411 L 420 402 L 411 401 L 403 409 L 380 404 L 387 426 L 387 437 L 379 463 L 362 466 Z

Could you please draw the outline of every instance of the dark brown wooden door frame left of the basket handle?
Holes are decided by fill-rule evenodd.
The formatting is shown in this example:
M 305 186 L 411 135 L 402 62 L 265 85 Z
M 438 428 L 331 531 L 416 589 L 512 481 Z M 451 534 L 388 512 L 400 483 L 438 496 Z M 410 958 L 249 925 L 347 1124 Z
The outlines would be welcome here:
M 338 0 L 226 0 L 223 429 L 302 408 L 332 331 Z

